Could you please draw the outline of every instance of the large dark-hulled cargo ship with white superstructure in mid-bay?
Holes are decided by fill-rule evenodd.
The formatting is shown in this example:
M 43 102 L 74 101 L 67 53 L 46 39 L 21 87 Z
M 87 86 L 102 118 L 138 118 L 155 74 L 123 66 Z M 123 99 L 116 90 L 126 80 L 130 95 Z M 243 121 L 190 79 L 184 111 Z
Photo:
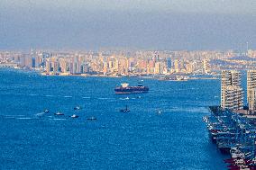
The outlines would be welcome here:
M 114 88 L 115 94 L 141 94 L 149 92 L 149 87 L 143 86 L 142 82 L 139 82 L 137 86 L 129 86 L 127 83 L 121 84 Z

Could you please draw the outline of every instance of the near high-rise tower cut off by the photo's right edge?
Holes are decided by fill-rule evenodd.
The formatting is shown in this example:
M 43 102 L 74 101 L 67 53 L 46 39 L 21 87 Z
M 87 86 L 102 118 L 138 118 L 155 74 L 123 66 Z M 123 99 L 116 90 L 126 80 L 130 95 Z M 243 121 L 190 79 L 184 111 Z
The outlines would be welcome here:
M 249 110 L 256 110 L 256 70 L 247 71 L 247 103 Z

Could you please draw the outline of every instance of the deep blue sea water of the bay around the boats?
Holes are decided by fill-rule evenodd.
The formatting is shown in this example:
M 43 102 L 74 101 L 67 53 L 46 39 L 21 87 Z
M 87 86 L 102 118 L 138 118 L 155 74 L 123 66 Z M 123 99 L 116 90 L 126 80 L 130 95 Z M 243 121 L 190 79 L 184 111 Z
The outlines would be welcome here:
M 0 169 L 225 169 L 202 121 L 219 80 L 144 79 L 148 94 L 114 94 L 138 80 L 0 69 Z

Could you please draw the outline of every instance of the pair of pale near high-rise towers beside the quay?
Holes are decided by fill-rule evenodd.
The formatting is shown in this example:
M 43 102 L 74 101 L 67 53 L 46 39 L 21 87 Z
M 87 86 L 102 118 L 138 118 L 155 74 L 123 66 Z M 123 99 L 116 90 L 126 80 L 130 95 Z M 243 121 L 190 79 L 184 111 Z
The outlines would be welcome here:
M 239 111 L 244 109 L 242 74 L 237 70 L 221 73 L 221 107 Z M 247 71 L 247 103 L 251 113 L 256 111 L 256 70 Z

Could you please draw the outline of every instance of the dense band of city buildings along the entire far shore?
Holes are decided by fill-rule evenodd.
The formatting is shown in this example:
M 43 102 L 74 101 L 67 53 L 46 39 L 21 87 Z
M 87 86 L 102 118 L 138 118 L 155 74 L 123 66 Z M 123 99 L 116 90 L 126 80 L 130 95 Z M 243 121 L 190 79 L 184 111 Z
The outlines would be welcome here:
M 215 74 L 222 69 L 256 67 L 256 50 L 227 51 L 2 51 L 0 67 L 39 70 L 59 76 L 169 76 Z

